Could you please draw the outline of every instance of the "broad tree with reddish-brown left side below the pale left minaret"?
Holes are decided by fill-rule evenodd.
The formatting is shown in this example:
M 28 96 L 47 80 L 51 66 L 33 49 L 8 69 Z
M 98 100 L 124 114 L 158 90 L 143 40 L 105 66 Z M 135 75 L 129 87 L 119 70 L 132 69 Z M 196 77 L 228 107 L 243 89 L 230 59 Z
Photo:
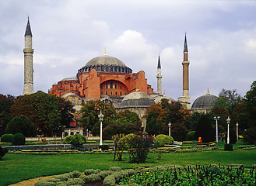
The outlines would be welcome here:
M 65 99 L 49 95 L 43 91 L 19 96 L 11 108 L 11 115 L 26 115 L 38 130 L 51 136 L 61 126 L 61 121 L 71 119 L 71 107 Z

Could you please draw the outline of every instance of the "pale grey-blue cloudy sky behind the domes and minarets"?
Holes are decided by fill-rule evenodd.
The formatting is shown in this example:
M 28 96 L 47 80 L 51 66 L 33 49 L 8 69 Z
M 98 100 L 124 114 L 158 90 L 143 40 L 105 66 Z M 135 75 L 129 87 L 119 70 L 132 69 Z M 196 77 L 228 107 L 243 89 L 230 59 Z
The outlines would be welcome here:
M 256 80 L 255 0 L 0 1 L 0 93 L 23 95 L 27 16 L 33 33 L 34 91 L 75 76 L 93 57 L 117 57 L 145 71 L 156 91 L 160 53 L 163 91 L 182 95 L 184 33 L 191 102 L 207 88 L 244 96 Z

